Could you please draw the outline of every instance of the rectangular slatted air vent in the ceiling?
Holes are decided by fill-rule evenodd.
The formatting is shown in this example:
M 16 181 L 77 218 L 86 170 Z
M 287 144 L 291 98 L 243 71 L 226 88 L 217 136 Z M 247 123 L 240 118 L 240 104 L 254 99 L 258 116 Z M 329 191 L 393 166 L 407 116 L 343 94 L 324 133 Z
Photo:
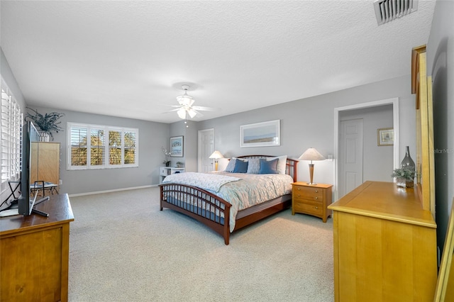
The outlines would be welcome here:
M 376 0 L 375 16 L 378 25 L 401 18 L 418 9 L 417 0 Z

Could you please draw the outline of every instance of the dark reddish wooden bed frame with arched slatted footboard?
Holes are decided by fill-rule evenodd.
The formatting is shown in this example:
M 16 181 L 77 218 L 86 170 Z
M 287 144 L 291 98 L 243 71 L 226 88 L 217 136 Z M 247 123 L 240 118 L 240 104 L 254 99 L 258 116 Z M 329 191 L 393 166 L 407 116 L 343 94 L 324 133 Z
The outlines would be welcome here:
M 267 158 L 276 157 L 270 155 L 243 155 L 237 158 Z M 286 174 L 289 174 L 294 181 L 297 181 L 298 160 L 287 158 Z M 219 235 L 223 236 L 224 243 L 229 244 L 230 240 L 230 208 L 231 203 L 215 194 L 205 191 L 195 186 L 184 184 L 160 184 L 160 211 L 163 208 L 170 208 L 179 213 L 183 213 L 195 220 L 203 223 Z M 186 202 L 184 202 L 186 201 Z M 291 201 L 291 199 L 290 199 Z M 245 216 L 236 220 L 236 228 L 243 228 L 246 225 L 270 216 L 274 213 L 288 208 L 291 204 L 287 198 L 284 203 L 277 204 L 270 208 Z

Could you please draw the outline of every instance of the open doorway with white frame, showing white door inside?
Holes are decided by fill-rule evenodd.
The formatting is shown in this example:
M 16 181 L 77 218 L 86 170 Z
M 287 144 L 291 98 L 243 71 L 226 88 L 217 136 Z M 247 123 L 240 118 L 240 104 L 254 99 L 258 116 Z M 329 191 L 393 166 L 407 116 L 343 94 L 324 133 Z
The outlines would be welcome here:
M 380 114 L 388 115 L 388 125 L 392 121 L 393 146 L 377 147 L 377 128 L 382 125 L 377 118 Z M 369 121 L 367 116 L 372 116 Z M 392 181 L 388 174 L 399 167 L 399 99 L 335 108 L 334 128 L 334 200 L 365 180 Z M 387 162 L 382 164 L 382 159 Z

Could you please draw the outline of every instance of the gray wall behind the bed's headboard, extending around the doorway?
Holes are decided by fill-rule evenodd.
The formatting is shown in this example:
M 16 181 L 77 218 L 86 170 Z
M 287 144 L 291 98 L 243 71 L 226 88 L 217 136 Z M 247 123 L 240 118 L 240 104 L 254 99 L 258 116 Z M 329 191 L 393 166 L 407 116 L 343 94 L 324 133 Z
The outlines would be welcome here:
M 298 158 L 309 147 L 315 147 L 326 157 L 334 153 L 334 108 L 395 97 L 399 98 L 399 154 L 402 154 L 403 159 L 406 145 L 410 146 L 410 150 L 416 150 L 415 96 L 411 94 L 410 75 L 201 121 L 197 126 L 199 130 L 214 128 L 216 150 L 221 151 L 225 157 L 260 153 Z M 240 125 L 277 119 L 281 121 L 280 146 L 240 147 Z M 194 149 L 197 147 L 196 140 L 187 142 L 187 146 L 188 144 Z M 306 162 L 299 164 L 298 173 L 299 181 L 309 180 L 309 167 Z M 371 173 L 373 172 L 367 172 L 367 175 L 372 177 Z M 388 171 L 388 174 L 391 173 L 392 166 Z M 384 172 L 380 174 L 384 175 Z M 315 162 L 314 180 L 333 184 L 334 162 Z M 389 177 L 388 181 L 392 179 Z

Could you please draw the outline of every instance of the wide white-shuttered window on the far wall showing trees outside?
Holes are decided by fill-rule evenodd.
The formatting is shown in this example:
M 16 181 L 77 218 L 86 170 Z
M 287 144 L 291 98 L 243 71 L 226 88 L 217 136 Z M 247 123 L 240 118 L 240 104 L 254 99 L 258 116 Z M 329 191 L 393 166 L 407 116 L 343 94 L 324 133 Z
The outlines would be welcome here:
M 138 129 L 68 123 L 67 133 L 70 170 L 138 167 Z

